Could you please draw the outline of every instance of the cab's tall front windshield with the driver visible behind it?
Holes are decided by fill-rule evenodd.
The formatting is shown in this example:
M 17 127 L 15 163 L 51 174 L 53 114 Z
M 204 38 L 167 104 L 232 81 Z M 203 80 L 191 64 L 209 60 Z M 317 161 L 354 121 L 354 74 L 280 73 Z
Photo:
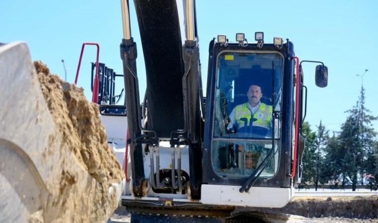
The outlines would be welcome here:
M 215 172 L 249 177 L 271 154 L 260 177 L 273 176 L 281 147 L 281 120 L 277 114 L 282 107 L 283 55 L 221 52 L 216 72 L 212 141 Z

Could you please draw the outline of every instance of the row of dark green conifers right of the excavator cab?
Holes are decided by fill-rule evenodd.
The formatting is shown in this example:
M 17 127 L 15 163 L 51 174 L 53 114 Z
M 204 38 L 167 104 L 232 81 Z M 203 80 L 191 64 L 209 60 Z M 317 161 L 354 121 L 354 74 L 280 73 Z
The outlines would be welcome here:
M 378 117 L 364 107 L 364 94 L 362 87 L 356 105 L 346 111 L 348 116 L 340 132 L 330 134 L 321 121 L 315 131 L 308 122 L 303 123 L 306 149 L 299 188 L 351 185 L 355 191 L 365 183 L 371 189 L 378 188 L 378 141 L 372 124 Z

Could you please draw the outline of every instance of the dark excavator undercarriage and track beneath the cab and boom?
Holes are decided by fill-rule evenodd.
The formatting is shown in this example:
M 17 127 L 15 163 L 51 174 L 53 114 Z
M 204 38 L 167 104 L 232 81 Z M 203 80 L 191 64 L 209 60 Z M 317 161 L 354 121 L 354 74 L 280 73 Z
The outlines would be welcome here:
M 122 205 L 131 213 L 131 222 L 313 223 L 297 215 L 239 211 L 230 206 L 208 206 L 199 202 L 122 200 Z

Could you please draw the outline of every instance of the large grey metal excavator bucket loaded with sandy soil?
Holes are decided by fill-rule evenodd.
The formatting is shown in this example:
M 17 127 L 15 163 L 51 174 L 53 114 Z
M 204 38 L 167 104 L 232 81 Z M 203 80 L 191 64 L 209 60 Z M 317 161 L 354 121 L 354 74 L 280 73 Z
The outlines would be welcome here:
M 37 70 L 25 43 L 0 44 L 0 222 L 106 222 L 125 181 L 98 107 Z

